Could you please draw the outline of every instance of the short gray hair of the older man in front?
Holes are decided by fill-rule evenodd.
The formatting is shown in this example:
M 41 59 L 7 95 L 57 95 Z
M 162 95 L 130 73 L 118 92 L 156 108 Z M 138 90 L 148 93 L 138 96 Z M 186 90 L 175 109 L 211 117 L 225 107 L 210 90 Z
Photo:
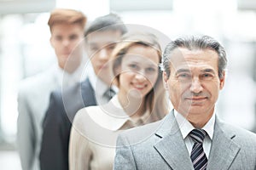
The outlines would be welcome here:
M 166 46 L 163 54 L 163 70 L 166 71 L 167 77 L 170 76 L 170 59 L 172 57 L 172 51 L 176 48 L 188 48 L 193 49 L 212 49 L 218 54 L 218 77 L 222 78 L 224 69 L 227 65 L 226 52 L 224 47 L 212 37 L 180 37 L 176 40 L 169 42 Z

